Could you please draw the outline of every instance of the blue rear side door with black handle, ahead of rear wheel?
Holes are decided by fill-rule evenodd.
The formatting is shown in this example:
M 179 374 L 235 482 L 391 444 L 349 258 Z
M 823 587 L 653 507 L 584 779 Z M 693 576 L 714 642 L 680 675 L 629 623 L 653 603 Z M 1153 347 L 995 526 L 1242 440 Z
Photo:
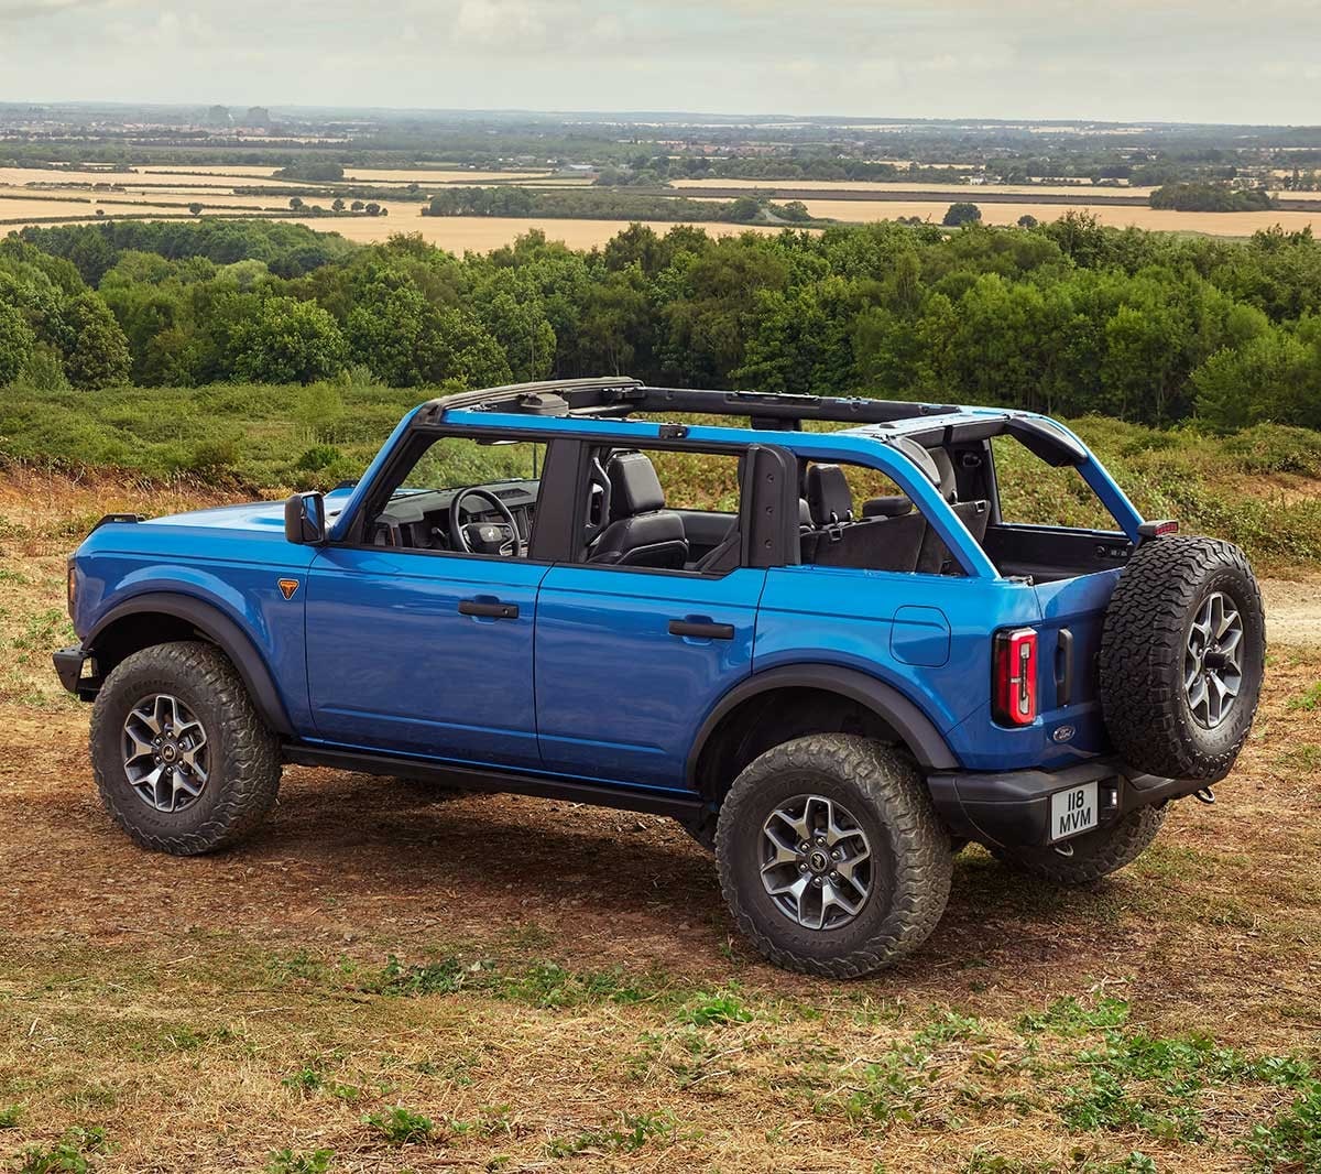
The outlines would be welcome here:
M 744 529 L 753 525 L 754 476 L 744 481 Z M 741 551 L 753 547 L 760 543 L 741 543 L 732 562 L 752 562 Z M 585 561 L 551 567 L 536 604 L 544 765 L 622 784 L 687 785 L 701 722 L 752 672 L 765 582 L 765 567 L 748 565 L 723 572 Z

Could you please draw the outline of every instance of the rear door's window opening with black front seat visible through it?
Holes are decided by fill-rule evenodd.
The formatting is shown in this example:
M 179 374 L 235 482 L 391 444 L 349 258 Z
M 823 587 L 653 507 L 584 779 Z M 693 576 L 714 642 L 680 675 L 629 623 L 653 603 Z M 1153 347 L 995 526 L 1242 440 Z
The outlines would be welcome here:
M 700 450 L 588 452 L 580 561 L 723 574 L 738 566 L 740 460 Z

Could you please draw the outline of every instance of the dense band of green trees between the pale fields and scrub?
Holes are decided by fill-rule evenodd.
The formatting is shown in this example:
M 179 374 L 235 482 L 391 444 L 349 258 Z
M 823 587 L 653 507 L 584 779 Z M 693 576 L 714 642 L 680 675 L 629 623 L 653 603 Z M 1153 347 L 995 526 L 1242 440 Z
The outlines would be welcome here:
M 0 243 L 0 385 L 347 373 L 400 387 L 631 373 L 1321 427 L 1321 243 L 1100 227 L 832 226 L 713 239 L 633 225 L 576 251 L 354 246 L 262 221 L 29 229 Z

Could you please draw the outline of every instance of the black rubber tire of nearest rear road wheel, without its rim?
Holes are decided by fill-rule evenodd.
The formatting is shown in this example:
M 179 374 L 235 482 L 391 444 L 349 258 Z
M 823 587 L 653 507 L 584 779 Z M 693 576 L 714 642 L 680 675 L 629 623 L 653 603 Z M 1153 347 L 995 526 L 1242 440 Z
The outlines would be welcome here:
M 761 883 L 762 826 L 795 795 L 844 804 L 872 845 L 872 892 L 836 929 L 808 929 Z M 716 828 L 720 887 L 740 931 L 770 961 L 804 974 L 857 978 L 913 953 L 935 929 L 954 871 L 948 832 L 917 764 L 849 734 L 812 734 L 768 750 L 734 780 Z

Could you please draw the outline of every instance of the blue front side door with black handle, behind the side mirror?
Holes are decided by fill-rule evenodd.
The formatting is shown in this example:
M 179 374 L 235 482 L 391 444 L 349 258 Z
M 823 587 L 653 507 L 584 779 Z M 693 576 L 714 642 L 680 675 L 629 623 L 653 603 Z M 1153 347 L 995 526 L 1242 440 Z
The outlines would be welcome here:
M 456 481 L 474 480 L 478 461 L 490 468 L 503 455 L 507 475 L 517 457 L 515 446 L 419 443 L 411 471 L 382 490 L 378 518 L 391 509 L 407 514 L 410 502 L 423 500 L 419 492 L 444 502 Z M 446 444 L 457 447 L 446 452 Z M 399 489 L 406 479 L 410 488 Z M 506 485 L 494 487 L 501 497 L 535 498 L 535 480 L 526 489 Z M 550 562 L 407 545 L 408 534 L 429 526 L 427 516 L 396 526 L 404 537 L 392 537 L 394 546 L 369 545 L 359 533 L 357 543 L 328 546 L 313 561 L 306 658 L 317 731 L 326 742 L 374 751 L 535 768 L 532 632 Z

